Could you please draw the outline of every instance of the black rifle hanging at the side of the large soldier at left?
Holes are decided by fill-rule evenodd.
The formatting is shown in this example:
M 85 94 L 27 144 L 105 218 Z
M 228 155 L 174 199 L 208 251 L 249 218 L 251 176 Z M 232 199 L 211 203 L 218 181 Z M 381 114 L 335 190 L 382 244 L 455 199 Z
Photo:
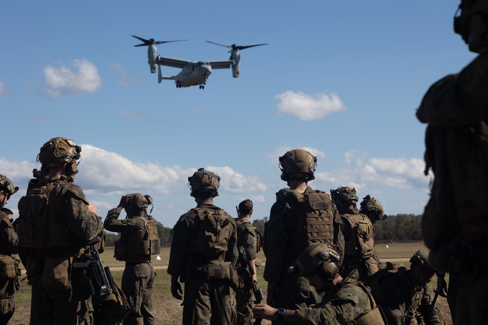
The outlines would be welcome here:
M 81 268 L 83 270 L 92 297 L 103 299 L 110 296 L 111 285 L 115 287 L 115 284 L 110 269 L 108 267 L 103 268 L 100 253 L 95 245 L 98 242 L 100 242 L 100 237 L 97 236 L 87 243 L 87 246 L 90 246 L 92 249 L 92 254 L 88 256 L 88 260 L 85 262 L 73 263 L 73 268 Z

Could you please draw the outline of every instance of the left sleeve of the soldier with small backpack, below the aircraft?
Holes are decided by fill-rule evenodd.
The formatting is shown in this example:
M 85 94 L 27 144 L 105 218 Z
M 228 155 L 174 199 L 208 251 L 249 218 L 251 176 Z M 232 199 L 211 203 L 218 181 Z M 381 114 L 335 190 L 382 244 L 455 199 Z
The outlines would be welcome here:
M 168 274 L 180 276 L 186 258 L 186 246 L 189 240 L 189 228 L 193 226 L 193 212 L 183 214 L 173 228 L 173 241 L 169 253 Z

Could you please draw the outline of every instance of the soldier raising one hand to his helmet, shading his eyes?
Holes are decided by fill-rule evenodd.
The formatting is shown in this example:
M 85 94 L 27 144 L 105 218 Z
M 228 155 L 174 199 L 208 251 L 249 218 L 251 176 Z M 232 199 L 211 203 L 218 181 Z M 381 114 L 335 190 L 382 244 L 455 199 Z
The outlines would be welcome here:
M 122 291 L 131 311 L 123 323 L 128 325 L 156 324 L 152 307 L 156 272 L 151 264 L 151 255 L 160 253 L 161 242 L 156 221 L 147 213 L 149 204 L 152 204 L 152 198 L 147 194 L 124 195 L 117 208 L 108 211 L 103 222 L 103 228 L 121 233 L 115 257 L 125 261 Z M 127 217 L 118 220 L 122 209 Z

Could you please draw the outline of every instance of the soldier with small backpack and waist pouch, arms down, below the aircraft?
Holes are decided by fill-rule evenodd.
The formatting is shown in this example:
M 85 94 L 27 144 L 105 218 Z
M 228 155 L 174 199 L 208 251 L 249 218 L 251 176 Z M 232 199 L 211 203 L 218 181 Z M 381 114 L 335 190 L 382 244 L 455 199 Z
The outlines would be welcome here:
M 183 214 L 173 229 L 168 273 L 171 294 L 182 299 L 183 325 L 234 324 L 230 285 L 237 289 L 236 221 L 213 204 L 219 195 L 219 175 L 199 169 L 188 177 L 197 207 Z

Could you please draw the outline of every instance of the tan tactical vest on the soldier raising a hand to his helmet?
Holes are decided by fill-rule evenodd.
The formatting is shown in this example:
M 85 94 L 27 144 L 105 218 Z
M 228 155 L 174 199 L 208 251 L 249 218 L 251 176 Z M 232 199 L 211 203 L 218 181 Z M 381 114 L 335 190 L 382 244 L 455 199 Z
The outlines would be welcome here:
M 157 255 L 161 251 L 156 221 L 151 216 L 136 217 L 144 220 L 144 235 L 133 238 L 126 244 L 127 259 L 138 259 L 143 256 Z

